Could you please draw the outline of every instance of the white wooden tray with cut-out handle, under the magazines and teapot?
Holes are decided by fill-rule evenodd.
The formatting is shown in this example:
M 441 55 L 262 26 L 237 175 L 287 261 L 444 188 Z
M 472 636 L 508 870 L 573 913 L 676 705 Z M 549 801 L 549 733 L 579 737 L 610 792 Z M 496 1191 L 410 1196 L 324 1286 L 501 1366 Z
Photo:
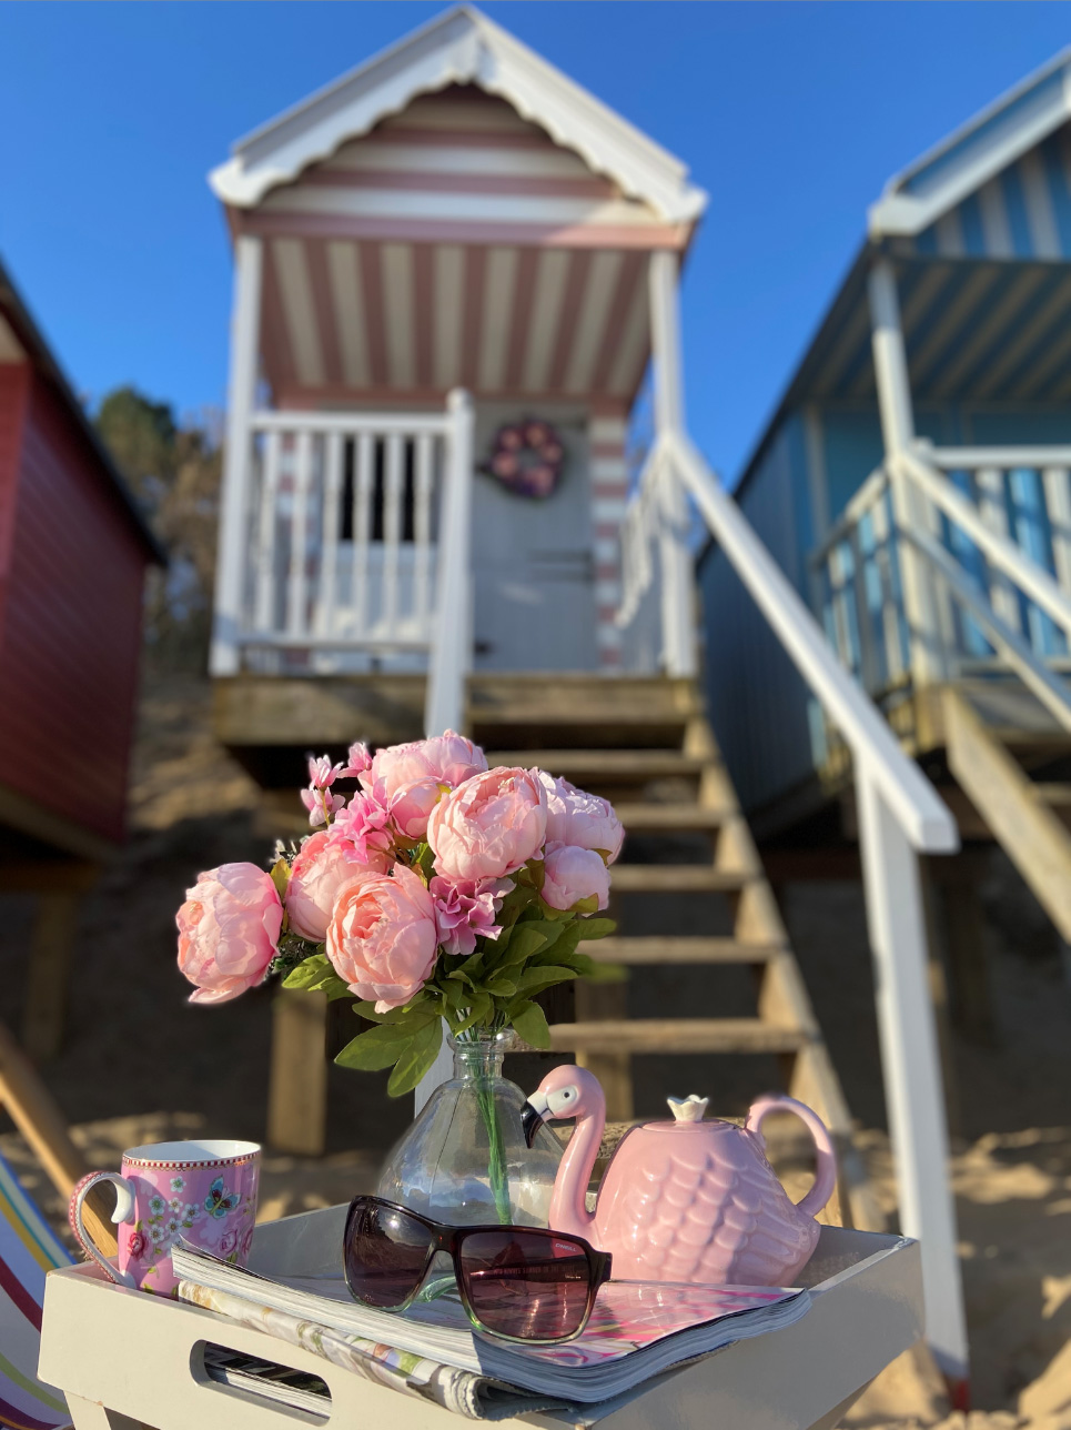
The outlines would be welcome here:
M 315 1273 L 337 1253 L 345 1208 L 257 1227 L 259 1271 Z M 738 1341 L 641 1387 L 582 1421 L 530 1414 L 496 1424 L 565 1430 L 831 1430 L 869 1381 L 922 1333 L 918 1244 L 822 1227 L 804 1273 L 812 1304 L 795 1326 Z M 313 1417 L 209 1380 L 206 1341 L 309 1371 L 326 1381 L 330 1414 Z M 465 1423 L 213 1311 L 132 1291 L 96 1266 L 50 1271 L 41 1379 L 67 1396 L 77 1430 L 460 1430 Z

